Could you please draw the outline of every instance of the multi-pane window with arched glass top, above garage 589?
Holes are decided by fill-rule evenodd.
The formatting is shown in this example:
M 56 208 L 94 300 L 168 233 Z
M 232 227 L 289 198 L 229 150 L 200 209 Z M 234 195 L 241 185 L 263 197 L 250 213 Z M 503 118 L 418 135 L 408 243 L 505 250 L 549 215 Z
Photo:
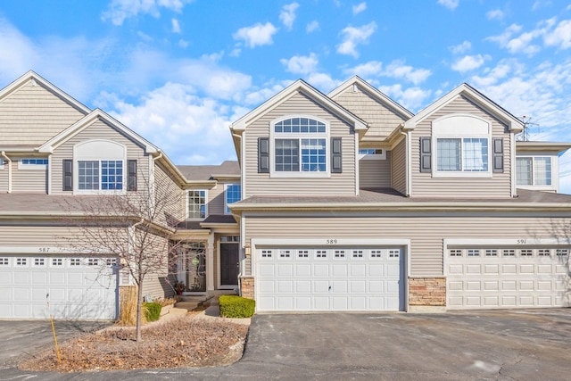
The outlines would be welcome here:
M 271 125 L 276 176 L 314 176 L 328 173 L 327 124 L 310 117 L 277 120 Z

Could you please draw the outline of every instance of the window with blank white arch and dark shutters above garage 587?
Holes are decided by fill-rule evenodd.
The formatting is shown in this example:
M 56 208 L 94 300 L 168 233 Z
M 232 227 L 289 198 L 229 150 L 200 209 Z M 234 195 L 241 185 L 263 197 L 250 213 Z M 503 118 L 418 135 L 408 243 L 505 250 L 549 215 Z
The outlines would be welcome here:
M 111 140 L 89 140 L 75 145 L 72 165 L 70 161 L 63 163 L 64 190 L 72 188 L 76 193 L 136 190 L 137 161 L 127 161 L 126 156 L 127 148 Z

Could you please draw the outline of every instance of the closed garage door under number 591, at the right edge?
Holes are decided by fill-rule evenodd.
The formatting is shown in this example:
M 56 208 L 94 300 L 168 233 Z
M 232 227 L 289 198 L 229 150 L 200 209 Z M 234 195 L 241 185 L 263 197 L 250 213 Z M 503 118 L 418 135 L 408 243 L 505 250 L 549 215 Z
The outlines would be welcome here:
M 567 248 L 451 248 L 448 309 L 569 306 Z

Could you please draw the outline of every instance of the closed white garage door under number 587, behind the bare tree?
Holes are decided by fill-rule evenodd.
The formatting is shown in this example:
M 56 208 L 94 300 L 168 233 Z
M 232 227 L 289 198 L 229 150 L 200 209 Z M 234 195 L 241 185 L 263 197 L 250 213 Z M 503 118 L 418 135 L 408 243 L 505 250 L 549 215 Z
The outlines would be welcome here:
M 0 318 L 116 319 L 114 259 L 0 255 Z M 47 309 L 49 302 L 49 311 Z

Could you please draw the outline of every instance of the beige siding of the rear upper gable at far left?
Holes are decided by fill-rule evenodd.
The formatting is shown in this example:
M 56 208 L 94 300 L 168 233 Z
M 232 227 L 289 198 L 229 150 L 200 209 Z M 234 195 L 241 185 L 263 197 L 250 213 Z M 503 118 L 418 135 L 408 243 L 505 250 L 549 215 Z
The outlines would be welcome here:
M 0 101 L 2 144 L 42 145 L 84 115 L 46 87 L 28 81 Z

